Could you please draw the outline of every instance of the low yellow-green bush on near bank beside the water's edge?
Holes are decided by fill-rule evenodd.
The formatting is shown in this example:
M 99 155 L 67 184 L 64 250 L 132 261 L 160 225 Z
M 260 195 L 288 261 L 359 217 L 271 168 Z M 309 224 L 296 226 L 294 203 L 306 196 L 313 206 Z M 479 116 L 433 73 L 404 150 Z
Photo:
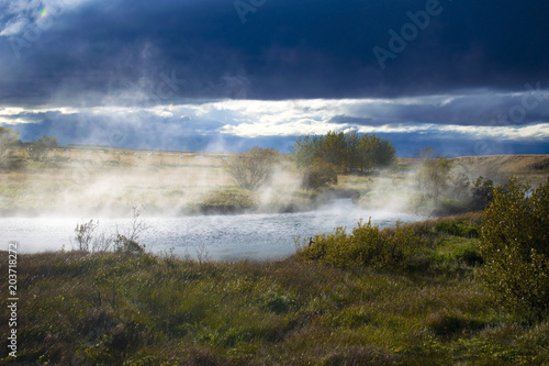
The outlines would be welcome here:
M 380 230 L 377 225 L 359 223 L 348 235 L 343 228 L 330 234 L 316 235 L 310 246 L 303 245 L 298 255 L 339 268 L 366 266 L 392 268 L 410 257 L 418 247 L 419 237 L 411 228 Z

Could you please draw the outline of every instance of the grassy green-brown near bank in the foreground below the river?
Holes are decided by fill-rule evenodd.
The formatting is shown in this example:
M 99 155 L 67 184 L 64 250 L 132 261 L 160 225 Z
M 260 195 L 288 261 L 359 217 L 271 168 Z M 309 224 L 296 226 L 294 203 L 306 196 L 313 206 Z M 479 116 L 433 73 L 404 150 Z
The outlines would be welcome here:
M 419 251 L 391 270 L 296 256 L 198 263 L 169 253 L 20 255 L 16 361 L 547 365 L 549 322 L 495 307 L 475 279 L 479 220 L 413 224 Z M 7 273 L 5 252 L 1 258 Z M 7 307 L 1 313 L 7 319 Z M 0 326 L 7 334 L 7 322 Z M 4 357 L 4 336 L 1 348 Z

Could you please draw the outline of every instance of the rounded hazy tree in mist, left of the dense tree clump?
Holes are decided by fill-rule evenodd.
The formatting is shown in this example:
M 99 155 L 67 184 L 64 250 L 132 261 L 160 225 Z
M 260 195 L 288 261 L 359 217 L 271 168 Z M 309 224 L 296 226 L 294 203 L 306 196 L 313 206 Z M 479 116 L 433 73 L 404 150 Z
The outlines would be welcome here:
M 269 180 L 279 156 L 277 149 L 256 146 L 245 154 L 229 157 L 225 169 L 239 187 L 254 190 Z

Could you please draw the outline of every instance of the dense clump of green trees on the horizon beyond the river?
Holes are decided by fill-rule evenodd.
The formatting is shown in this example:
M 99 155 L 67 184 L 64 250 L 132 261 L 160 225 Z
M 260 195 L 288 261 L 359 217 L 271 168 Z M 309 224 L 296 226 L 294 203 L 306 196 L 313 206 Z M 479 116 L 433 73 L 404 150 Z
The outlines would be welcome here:
M 326 135 L 300 136 L 292 155 L 299 168 L 320 159 L 334 165 L 337 173 L 348 173 L 389 167 L 396 158 L 396 149 L 391 141 L 376 135 L 328 131 Z

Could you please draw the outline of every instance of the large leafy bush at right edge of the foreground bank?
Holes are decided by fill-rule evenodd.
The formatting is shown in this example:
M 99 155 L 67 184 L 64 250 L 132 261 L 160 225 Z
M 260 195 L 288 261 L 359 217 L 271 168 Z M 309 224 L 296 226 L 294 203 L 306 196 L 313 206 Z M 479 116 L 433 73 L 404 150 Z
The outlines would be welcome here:
M 494 298 L 514 308 L 549 309 L 549 178 L 533 190 L 516 178 L 483 214 L 480 277 Z

